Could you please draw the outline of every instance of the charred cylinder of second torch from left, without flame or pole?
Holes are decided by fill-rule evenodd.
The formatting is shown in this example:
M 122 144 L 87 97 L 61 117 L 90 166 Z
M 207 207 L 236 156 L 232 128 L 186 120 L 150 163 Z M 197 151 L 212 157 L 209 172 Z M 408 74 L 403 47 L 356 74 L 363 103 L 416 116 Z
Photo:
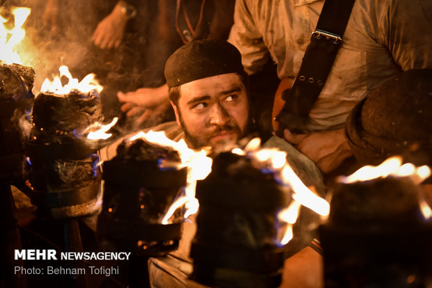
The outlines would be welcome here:
M 102 120 L 96 93 L 40 93 L 34 102 L 25 154 L 30 166 L 30 198 L 40 214 L 69 218 L 100 209 L 98 141 L 85 131 Z

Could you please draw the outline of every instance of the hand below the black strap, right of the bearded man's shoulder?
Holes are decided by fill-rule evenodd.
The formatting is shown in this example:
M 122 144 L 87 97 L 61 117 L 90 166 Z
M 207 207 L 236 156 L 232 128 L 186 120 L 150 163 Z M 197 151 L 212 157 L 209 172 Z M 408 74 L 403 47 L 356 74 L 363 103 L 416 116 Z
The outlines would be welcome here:
M 313 132 L 311 134 L 291 134 L 284 130 L 286 141 L 314 161 L 323 173 L 338 168 L 353 153 L 346 142 L 344 129 Z

